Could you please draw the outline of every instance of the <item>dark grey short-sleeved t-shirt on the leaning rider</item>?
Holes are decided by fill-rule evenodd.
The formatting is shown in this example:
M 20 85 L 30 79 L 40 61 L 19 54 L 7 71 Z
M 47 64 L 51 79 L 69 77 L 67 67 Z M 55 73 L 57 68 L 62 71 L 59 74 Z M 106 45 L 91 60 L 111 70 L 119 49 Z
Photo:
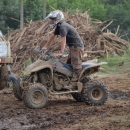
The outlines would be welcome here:
M 60 35 L 61 37 L 66 36 L 66 44 L 68 46 L 84 48 L 84 44 L 76 29 L 66 22 L 58 23 L 54 34 Z

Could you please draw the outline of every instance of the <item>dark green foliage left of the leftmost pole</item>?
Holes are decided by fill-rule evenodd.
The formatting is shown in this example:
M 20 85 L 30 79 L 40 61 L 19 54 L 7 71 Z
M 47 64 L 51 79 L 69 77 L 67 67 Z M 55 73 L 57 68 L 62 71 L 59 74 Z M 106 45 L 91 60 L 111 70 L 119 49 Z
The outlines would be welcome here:
M 0 30 L 6 33 L 8 27 L 17 28 L 18 23 L 11 19 L 18 19 L 19 17 L 19 1 L 17 0 L 1 0 L 0 1 Z

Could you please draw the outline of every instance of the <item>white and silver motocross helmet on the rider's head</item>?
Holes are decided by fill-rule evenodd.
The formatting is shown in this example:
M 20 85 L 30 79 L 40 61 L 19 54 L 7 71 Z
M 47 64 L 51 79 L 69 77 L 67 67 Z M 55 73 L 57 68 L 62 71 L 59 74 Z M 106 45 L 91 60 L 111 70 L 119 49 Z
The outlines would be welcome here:
M 56 19 L 54 23 L 50 24 L 50 27 L 54 28 L 57 23 L 64 20 L 64 15 L 60 10 L 55 10 L 55 11 L 50 12 L 45 19 L 47 18 Z

